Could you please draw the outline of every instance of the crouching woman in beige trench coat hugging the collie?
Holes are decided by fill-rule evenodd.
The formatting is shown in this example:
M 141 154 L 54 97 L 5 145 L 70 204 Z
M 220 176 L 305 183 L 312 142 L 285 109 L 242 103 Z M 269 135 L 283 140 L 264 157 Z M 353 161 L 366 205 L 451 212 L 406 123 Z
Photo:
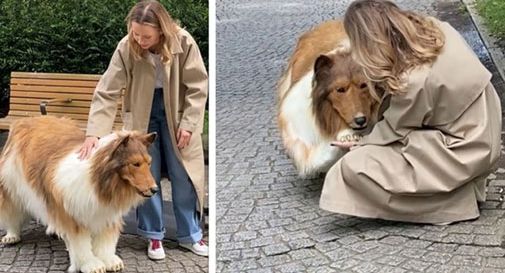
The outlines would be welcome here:
M 386 90 L 385 110 L 328 172 L 321 208 L 433 224 L 477 218 L 500 154 L 491 74 L 448 23 L 389 1 L 353 2 L 344 27 L 353 57 Z

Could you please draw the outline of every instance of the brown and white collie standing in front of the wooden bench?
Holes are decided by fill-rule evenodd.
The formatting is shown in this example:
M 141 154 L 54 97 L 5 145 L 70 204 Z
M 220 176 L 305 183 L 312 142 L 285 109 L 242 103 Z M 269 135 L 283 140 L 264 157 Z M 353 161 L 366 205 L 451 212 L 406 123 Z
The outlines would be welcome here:
M 70 272 L 118 271 L 115 254 L 122 217 L 158 191 L 147 148 L 155 134 L 117 132 L 78 159 L 85 135 L 65 118 L 27 118 L 12 124 L 0 161 L 2 243 L 20 241 L 33 216 L 64 241 Z

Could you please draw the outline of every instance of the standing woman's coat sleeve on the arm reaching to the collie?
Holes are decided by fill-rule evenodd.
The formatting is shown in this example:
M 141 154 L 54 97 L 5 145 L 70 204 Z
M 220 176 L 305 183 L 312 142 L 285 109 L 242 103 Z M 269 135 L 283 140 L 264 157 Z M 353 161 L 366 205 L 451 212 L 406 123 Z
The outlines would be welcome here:
M 125 39 L 119 43 L 95 88 L 86 129 L 88 136 L 102 137 L 112 131 L 117 102 L 127 82 L 126 53 L 122 50 L 127 45 L 124 43 Z

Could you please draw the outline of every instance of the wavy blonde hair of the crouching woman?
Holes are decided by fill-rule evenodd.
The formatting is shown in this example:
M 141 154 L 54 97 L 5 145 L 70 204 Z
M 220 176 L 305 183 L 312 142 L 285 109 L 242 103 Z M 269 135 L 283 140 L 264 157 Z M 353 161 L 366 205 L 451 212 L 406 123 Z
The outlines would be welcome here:
M 365 75 L 394 95 L 405 92 L 402 75 L 433 63 L 445 43 L 432 20 L 387 0 L 353 2 L 345 13 L 344 28 L 353 58 Z

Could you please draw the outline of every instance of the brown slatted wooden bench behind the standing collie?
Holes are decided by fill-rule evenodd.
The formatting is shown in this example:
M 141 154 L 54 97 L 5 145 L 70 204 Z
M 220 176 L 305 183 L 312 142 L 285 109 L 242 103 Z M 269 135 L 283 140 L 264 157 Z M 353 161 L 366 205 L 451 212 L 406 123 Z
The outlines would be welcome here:
M 91 99 L 100 75 L 12 72 L 9 115 L 0 119 L 0 129 L 13 120 L 43 114 L 65 116 L 86 128 Z M 114 129 L 122 127 L 120 102 Z

